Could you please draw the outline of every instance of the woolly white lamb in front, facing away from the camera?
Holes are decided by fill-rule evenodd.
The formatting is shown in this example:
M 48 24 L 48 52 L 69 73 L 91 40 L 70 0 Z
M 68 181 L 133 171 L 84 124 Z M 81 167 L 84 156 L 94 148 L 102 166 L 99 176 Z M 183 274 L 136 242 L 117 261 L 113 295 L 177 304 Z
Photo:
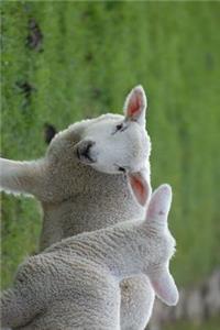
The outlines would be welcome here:
M 162 185 L 144 220 L 81 233 L 29 257 L 14 286 L 2 294 L 2 326 L 119 330 L 119 282 L 141 274 L 164 302 L 176 305 L 178 292 L 168 271 L 175 250 L 167 226 L 170 202 L 172 189 Z

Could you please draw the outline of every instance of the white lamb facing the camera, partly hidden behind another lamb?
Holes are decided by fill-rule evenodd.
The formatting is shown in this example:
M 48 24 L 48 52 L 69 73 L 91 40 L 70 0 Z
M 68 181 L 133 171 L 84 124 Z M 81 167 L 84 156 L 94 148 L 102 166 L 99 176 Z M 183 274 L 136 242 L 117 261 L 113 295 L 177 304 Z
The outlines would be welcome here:
M 1 188 L 41 201 L 41 250 L 70 235 L 143 218 L 142 177 L 150 183 L 151 151 L 145 110 L 146 97 L 138 86 L 125 100 L 124 117 L 105 114 L 70 125 L 55 135 L 42 160 L 0 160 Z M 142 206 L 133 199 L 128 177 Z M 147 278 L 125 279 L 121 288 L 122 329 L 143 329 L 154 301 Z

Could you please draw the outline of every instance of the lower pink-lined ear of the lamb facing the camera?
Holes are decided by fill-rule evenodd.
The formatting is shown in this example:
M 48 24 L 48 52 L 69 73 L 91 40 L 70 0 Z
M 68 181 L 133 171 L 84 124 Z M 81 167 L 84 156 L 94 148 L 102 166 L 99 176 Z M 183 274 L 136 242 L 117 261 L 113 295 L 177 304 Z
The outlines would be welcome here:
M 151 187 L 143 173 L 129 173 L 129 184 L 140 205 L 145 206 L 151 196 Z

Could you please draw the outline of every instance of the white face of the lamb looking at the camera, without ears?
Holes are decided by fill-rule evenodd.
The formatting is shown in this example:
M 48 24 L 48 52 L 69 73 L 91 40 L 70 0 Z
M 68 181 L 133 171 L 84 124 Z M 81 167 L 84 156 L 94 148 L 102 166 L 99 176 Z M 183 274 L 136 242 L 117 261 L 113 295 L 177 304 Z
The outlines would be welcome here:
M 103 117 L 85 130 L 77 154 L 82 163 L 100 172 L 139 172 L 148 158 L 150 139 L 135 121 Z

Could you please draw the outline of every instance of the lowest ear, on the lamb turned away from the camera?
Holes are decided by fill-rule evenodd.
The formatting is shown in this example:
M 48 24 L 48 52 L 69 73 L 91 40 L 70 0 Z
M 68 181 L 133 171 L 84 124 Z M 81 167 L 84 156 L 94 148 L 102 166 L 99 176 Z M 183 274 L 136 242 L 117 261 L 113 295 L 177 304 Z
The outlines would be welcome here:
M 162 301 L 168 306 L 175 306 L 178 302 L 178 289 L 168 267 L 164 267 L 158 274 L 155 273 L 148 277 L 155 294 Z

